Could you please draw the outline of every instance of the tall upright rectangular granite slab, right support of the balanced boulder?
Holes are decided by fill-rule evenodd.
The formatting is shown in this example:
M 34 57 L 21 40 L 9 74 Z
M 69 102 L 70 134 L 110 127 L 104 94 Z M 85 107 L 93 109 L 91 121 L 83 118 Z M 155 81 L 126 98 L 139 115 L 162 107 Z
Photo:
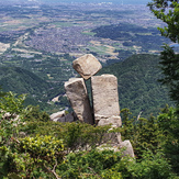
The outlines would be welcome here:
M 116 77 L 113 75 L 93 76 L 91 85 L 96 123 L 111 123 L 108 119 L 113 116 L 111 120 L 121 126 Z M 107 122 L 103 119 L 107 119 Z M 102 121 L 99 122 L 100 120 Z

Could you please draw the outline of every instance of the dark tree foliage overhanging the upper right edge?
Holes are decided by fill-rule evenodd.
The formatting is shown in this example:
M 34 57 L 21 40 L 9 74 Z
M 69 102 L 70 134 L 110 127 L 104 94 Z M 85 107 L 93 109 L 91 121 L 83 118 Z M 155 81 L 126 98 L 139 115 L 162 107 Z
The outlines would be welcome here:
M 179 1 L 153 0 L 148 5 L 154 15 L 166 24 L 164 27 L 158 27 L 161 35 L 169 37 L 174 43 L 179 43 Z M 169 87 L 170 98 L 179 105 L 179 55 L 175 53 L 174 47 L 166 44 L 160 58 L 164 74 L 160 81 Z

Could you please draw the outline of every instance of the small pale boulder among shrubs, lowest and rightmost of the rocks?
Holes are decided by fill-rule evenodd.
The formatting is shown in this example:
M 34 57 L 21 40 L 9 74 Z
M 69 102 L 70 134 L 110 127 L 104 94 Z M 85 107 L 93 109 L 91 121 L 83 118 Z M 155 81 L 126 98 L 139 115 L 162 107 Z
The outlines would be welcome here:
M 124 156 L 128 155 L 131 157 L 134 157 L 133 146 L 128 139 L 120 143 L 120 148 L 125 148 L 125 150 L 123 152 Z

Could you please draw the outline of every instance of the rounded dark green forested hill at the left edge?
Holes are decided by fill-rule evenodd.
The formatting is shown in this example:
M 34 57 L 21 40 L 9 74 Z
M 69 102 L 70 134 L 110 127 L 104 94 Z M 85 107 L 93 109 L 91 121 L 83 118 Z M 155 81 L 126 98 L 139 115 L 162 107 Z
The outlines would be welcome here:
M 43 94 L 51 87 L 48 82 L 20 67 L 0 67 L 0 86 L 4 91 Z

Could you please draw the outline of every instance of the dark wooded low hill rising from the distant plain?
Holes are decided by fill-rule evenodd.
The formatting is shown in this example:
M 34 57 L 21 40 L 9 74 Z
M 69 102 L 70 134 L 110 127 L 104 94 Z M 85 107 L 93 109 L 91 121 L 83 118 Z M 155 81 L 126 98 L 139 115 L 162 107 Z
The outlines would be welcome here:
M 123 41 L 123 45 L 128 46 L 139 46 L 142 53 L 147 53 L 150 51 L 160 51 L 163 43 L 169 43 L 170 41 L 166 37 L 161 37 L 157 29 L 155 27 L 142 27 L 134 24 L 112 24 L 103 25 L 92 30 L 96 33 L 94 36 L 102 38 L 110 38 L 114 41 Z M 111 33 L 112 32 L 112 33 Z M 119 57 L 126 57 L 133 54 L 134 49 L 123 51 L 116 49 L 119 52 Z

